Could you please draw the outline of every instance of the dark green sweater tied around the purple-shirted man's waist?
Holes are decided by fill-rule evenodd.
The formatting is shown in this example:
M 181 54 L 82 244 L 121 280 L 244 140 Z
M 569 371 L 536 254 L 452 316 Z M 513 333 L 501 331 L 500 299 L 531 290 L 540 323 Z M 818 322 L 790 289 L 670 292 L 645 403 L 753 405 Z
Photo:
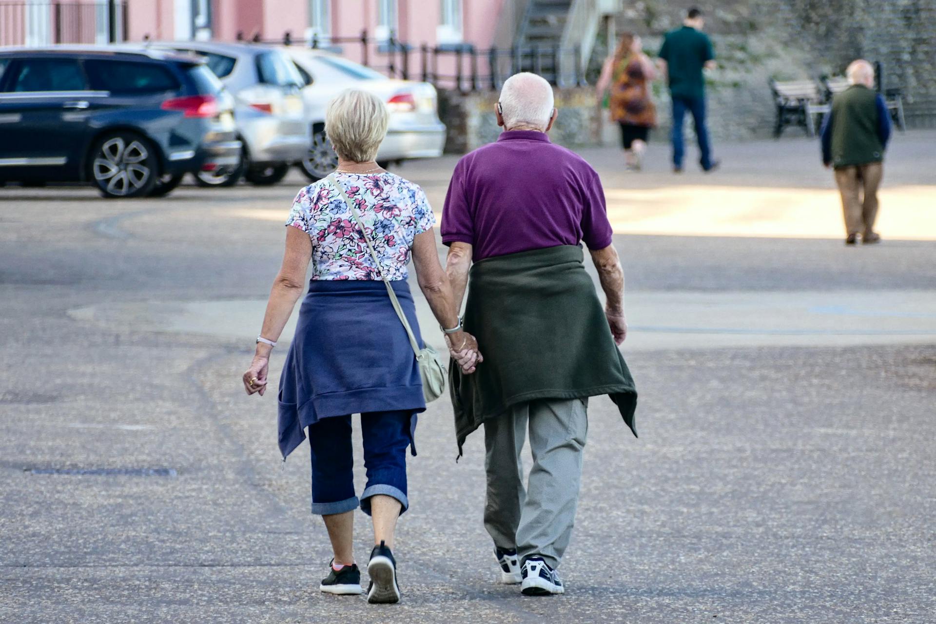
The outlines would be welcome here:
M 636 436 L 636 387 L 607 325 L 579 246 L 499 255 L 472 267 L 464 328 L 484 362 L 450 392 L 459 444 L 517 403 L 609 395 Z

